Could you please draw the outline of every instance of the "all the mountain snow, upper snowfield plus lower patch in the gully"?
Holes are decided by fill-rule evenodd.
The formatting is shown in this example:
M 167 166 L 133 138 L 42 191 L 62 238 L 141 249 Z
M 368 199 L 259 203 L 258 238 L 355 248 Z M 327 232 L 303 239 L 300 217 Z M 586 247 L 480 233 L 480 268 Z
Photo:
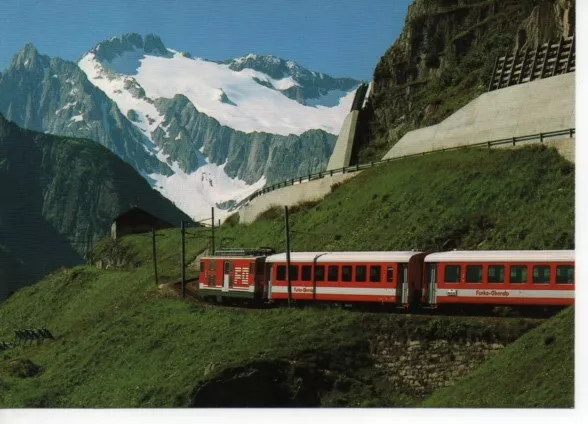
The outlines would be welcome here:
M 206 157 L 199 161 L 200 167 L 196 171 L 182 169 L 177 162 L 170 160 L 154 137 L 161 131 L 165 137 L 170 137 L 165 111 L 158 106 L 158 99 L 183 95 L 198 112 L 223 126 L 244 133 L 283 136 L 300 135 L 315 129 L 336 135 L 351 108 L 356 87 L 322 89 L 318 96 L 302 101 L 288 97 L 288 90 L 301 86 L 296 78 L 300 72 L 317 80 L 334 80 L 305 70 L 292 61 L 250 54 L 230 63 L 218 63 L 192 58 L 164 47 L 158 37 L 155 39 L 159 43 L 157 48 L 148 49 L 147 37 L 144 43 L 141 38 L 129 42 L 128 36 L 114 37 L 84 54 L 78 66 L 88 80 L 116 103 L 127 119 L 153 143 L 144 149 L 174 171 L 171 176 L 147 174 L 154 188 L 196 220 L 208 217 L 210 207 L 217 203 L 244 199 L 263 187 L 267 180 L 262 176 L 247 184 L 231 178 L 225 173 L 224 165 L 211 163 Z M 104 54 L 107 44 L 113 41 L 118 43 L 118 50 Z M 276 75 L 272 77 L 250 67 L 234 69 L 247 66 L 252 60 L 262 60 L 273 67 L 285 66 L 290 74 L 283 73 L 276 78 Z M 192 142 L 181 132 L 173 140 Z M 218 211 L 221 218 L 226 213 Z

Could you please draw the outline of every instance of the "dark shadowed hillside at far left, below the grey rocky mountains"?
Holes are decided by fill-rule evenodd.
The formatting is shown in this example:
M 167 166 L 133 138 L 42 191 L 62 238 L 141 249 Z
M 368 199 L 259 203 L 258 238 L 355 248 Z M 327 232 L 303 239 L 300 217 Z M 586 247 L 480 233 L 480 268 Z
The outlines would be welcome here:
M 82 263 L 133 203 L 172 223 L 188 219 L 105 147 L 24 130 L 1 115 L 0 200 L 0 244 L 16 260 L 3 262 L 10 278 L 0 280 L 0 301 Z

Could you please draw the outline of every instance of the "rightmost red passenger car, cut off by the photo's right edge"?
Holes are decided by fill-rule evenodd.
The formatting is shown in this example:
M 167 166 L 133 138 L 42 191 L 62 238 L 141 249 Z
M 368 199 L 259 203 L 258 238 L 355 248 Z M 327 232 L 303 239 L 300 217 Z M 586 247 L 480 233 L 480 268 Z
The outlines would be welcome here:
M 425 265 L 425 305 L 574 303 L 573 250 L 431 253 Z

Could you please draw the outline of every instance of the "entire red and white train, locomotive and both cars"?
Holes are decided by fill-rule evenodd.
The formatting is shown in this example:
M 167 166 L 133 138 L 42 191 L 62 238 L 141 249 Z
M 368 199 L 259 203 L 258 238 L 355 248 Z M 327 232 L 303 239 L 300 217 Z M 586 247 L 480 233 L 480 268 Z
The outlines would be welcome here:
M 292 252 L 295 301 L 565 306 L 574 303 L 573 250 Z M 288 299 L 286 254 L 217 252 L 200 260 L 204 297 Z

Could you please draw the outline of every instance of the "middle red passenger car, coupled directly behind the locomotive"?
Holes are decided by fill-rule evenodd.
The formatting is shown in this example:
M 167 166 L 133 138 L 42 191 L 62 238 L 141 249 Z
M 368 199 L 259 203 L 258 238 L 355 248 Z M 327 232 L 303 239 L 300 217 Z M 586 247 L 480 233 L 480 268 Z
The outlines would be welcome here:
M 420 296 L 420 252 L 293 252 L 293 300 L 378 302 L 408 306 Z M 269 256 L 269 299 L 288 299 L 286 254 Z

